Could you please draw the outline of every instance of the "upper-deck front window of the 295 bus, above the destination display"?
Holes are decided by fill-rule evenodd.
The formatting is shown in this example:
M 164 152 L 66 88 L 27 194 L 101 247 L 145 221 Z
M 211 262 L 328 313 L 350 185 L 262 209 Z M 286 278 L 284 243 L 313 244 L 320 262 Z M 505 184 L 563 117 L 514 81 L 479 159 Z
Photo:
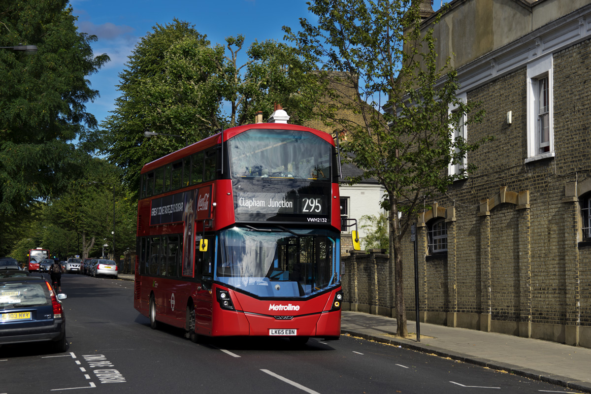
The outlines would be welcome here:
M 233 178 L 330 180 L 332 146 L 313 133 L 250 130 L 228 142 Z

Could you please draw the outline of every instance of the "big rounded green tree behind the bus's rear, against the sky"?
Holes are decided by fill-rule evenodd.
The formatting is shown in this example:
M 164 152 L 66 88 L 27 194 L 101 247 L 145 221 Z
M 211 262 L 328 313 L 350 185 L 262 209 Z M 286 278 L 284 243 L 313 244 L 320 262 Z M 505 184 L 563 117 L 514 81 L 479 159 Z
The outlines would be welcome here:
M 145 163 L 185 145 L 183 138 L 147 139 L 145 131 L 196 142 L 219 127 L 220 82 L 215 70 L 222 53 L 187 22 L 175 19 L 153 29 L 136 45 L 127 69 L 119 74 L 121 96 L 97 138 L 134 190 Z

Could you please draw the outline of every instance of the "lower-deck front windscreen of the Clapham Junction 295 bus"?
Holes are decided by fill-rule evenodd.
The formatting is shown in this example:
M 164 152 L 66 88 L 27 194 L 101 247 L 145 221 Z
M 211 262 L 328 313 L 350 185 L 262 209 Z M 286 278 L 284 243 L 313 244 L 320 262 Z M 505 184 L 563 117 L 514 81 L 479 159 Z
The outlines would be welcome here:
M 337 239 L 328 230 L 223 230 L 216 279 L 258 297 L 306 297 L 336 284 Z

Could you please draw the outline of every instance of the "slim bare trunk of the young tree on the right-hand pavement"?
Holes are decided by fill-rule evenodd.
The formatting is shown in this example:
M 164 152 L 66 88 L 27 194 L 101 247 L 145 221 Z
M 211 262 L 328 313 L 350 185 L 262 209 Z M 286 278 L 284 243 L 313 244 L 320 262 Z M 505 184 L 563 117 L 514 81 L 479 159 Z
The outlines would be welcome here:
M 389 196 L 392 232 L 390 233 L 390 264 L 394 266 L 394 303 L 396 305 L 396 334 L 407 337 L 406 307 L 404 304 L 404 276 L 402 276 L 402 245 L 400 242 L 400 220 L 398 200 Z

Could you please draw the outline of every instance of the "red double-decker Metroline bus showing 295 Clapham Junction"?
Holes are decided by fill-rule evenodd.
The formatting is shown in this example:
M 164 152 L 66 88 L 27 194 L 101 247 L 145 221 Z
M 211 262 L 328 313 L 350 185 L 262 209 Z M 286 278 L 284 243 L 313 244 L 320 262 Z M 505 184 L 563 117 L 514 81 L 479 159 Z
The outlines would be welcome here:
M 337 150 L 256 123 L 141 171 L 134 307 L 187 337 L 340 335 Z

